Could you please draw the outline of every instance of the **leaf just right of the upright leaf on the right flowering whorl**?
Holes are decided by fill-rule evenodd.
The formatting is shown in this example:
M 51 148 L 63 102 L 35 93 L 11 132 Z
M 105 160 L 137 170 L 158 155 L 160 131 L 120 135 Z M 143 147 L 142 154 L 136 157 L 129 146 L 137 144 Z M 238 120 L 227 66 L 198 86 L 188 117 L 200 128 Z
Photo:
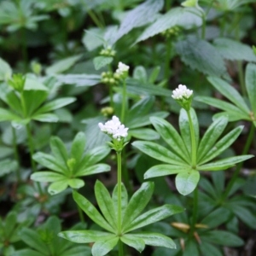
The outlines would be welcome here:
M 229 119 L 227 117 L 221 116 L 218 119 L 215 119 L 212 125 L 209 126 L 206 133 L 202 137 L 201 143 L 199 144 L 199 147 L 197 150 L 198 162 L 201 161 L 204 154 L 207 154 L 207 152 L 212 148 L 214 143 L 216 143 L 216 141 L 224 131 L 224 128 L 228 124 L 228 120 Z

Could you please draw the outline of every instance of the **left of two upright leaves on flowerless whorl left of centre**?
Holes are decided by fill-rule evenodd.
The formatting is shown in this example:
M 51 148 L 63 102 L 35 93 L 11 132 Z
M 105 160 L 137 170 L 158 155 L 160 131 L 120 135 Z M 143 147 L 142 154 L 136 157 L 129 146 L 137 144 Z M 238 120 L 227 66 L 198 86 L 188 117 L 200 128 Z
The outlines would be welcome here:
M 62 169 L 66 170 L 68 154 L 65 144 L 61 141 L 59 137 L 51 137 L 49 146 L 52 154 L 57 160 L 57 163 L 62 166 Z

